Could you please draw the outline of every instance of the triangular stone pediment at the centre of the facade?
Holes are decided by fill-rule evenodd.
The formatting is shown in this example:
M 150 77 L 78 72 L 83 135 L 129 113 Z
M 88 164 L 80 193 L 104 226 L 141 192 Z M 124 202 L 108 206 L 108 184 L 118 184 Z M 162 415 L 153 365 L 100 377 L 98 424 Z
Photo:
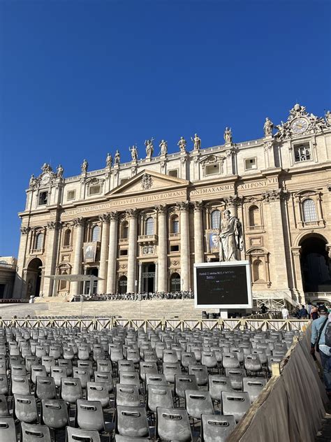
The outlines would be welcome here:
M 110 190 L 105 197 L 119 197 L 128 194 L 160 192 L 189 185 L 189 181 L 144 169 L 126 183 Z

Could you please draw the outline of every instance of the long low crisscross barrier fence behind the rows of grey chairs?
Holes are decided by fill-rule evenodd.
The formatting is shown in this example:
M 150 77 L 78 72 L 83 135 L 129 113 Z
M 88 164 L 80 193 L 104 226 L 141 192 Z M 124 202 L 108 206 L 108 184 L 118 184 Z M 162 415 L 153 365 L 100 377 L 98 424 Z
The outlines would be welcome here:
M 1 319 L 0 327 L 77 327 L 78 329 L 87 330 L 103 330 L 112 329 L 113 327 L 131 327 L 133 329 L 198 329 L 198 330 L 298 330 L 306 329 L 310 324 L 310 320 L 297 319 L 216 319 L 216 320 L 176 320 L 176 319 L 155 319 L 141 320 L 122 318 L 13 318 Z

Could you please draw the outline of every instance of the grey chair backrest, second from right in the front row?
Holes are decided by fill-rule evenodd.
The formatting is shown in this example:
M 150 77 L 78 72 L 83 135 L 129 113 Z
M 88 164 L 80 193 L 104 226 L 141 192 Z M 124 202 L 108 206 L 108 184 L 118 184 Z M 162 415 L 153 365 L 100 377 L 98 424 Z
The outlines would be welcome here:
M 159 407 L 156 411 L 156 439 L 192 441 L 187 411 L 182 408 Z

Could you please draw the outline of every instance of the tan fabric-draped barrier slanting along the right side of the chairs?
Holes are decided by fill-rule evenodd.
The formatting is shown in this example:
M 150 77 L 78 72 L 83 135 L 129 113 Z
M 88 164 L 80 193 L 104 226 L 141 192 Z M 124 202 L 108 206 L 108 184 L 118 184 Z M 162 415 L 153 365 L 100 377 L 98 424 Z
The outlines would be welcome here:
M 314 441 L 328 397 L 310 354 L 310 337 L 311 327 L 307 327 L 278 370 L 276 364 L 272 378 L 231 434 L 231 441 Z

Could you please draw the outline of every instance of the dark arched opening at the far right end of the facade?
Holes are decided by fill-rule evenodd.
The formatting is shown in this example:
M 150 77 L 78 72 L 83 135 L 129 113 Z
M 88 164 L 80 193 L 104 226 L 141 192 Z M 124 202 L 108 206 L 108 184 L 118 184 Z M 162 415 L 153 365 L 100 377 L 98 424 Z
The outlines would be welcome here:
M 330 292 L 330 258 L 323 236 L 305 236 L 301 245 L 301 273 L 304 292 Z

